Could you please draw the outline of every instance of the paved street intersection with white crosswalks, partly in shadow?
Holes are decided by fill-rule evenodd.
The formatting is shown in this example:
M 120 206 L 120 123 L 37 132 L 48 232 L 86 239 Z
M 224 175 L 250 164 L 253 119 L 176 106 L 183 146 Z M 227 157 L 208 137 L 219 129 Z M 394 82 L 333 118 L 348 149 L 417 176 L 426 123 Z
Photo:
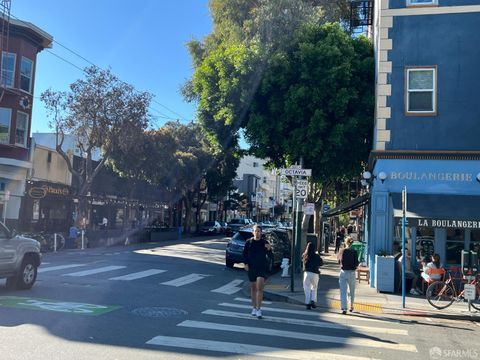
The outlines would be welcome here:
M 258 320 L 243 270 L 224 267 L 225 243 L 47 255 L 31 291 L 0 287 L 1 358 L 480 358 L 480 328 L 469 322 L 276 302 Z

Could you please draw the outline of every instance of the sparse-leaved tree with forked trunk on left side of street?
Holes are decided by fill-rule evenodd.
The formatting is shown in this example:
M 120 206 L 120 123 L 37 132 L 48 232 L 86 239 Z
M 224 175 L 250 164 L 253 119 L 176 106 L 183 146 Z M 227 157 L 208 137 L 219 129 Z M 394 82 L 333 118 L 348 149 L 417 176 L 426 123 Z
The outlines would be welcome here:
M 120 81 L 110 70 L 95 66 L 85 69 L 85 79 L 70 85 L 67 92 L 46 90 L 40 96 L 56 133 L 56 150 L 65 159 L 77 180 L 79 211 L 87 215 L 86 195 L 92 182 L 113 151 L 127 153 L 137 146 L 149 123 L 151 95 L 137 92 Z M 62 148 L 65 135 L 71 135 L 85 158 L 84 166 L 74 168 L 73 157 Z M 92 154 L 101 151 L 102 159 L 93 167 Z

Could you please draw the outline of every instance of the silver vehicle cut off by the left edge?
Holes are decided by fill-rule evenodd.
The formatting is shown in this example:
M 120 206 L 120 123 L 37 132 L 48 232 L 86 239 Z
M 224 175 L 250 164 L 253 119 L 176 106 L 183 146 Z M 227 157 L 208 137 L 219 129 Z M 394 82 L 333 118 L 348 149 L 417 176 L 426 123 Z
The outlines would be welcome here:
M 0 223 L 0 254 L 0 278 L 7 279 L 7 287 L 30 289 L 41 262 L 40 243 Z

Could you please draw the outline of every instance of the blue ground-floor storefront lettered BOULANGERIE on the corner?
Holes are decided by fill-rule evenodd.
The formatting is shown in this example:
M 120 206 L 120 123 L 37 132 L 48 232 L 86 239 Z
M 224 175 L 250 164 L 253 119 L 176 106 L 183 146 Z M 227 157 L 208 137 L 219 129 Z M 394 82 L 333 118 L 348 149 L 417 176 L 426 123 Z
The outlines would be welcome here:
M 380 173 L 382 176 L 379 176 Z M 377 159 L 369 204 L 369 265 L 375 255 L 395 255 L 402 243 L 402 196 L 407 191 L 406 241 L 412 254 L 440 255 L 460 264 L 461 250 L 480 247 L 480 161 Z

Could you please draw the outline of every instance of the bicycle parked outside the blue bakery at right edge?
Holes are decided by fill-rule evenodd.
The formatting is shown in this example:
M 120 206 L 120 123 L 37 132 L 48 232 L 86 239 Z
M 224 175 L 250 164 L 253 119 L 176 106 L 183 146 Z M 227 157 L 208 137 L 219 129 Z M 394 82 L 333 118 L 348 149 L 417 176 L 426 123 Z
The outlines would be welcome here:
M 465 289 L 458 291 L 455 279 L 449 271 L 447 271 L 447 274 L 448 278 L 446 280 L 438 280 L 431 283 L 426 291 L 427 301 L 434 308 L 440 310 L 449 307 L 454 301 L 465 300 Z M 475 299 L 469 301 L 469 309 L 470 305 L 472 305 L 474 309 L 480 311 L 480 282 L 478 281 L 478 275 L 467 284 L 475 285 Z

